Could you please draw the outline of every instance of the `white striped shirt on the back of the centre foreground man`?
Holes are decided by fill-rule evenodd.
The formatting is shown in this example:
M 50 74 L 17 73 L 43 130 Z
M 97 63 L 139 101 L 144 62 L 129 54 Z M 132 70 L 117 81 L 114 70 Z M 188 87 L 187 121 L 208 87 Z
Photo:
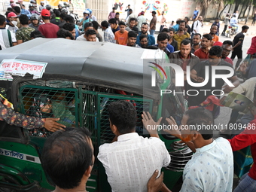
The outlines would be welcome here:
M 153 172 L 168 166 L 170 156 L 158 138 L 137 133 L 118 136 L 117 142 L 99 147 L 99 161 L 105 167 L 112 191 L 147 191 Z

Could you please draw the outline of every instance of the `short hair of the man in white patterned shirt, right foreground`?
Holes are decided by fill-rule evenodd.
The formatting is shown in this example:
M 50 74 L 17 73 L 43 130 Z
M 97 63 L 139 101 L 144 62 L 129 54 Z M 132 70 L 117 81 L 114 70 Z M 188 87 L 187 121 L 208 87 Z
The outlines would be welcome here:
M 185 115 L 188 116 L 187 126 L 190 126 L 190 128 L 193 128 L 193 130 L 197 130 L 199 133 L 201 133 L 203 139 L 205 140 L 212 139 L 213 137 L 212 129 L 209 129 L 209 130 L 197 129 L 199 128 L 199 126 L 202 126 L 202 125 L 212 126 L 213 116 L 211 111 L 207 110 L 206 108 L 199 107 L 199 108 L 193 108 L 193 109 L 187 110 L 185 112 Z

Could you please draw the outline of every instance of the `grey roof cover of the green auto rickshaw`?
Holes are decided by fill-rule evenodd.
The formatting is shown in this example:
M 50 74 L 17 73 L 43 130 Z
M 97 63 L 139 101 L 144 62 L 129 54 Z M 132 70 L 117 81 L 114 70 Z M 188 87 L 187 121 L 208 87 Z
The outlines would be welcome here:
M 42 79 L 84 81 L 145 96 L 143 80 L 151 82 L 151 70 L 143 70 L 145 50 L 108 42 L 71 41 L 64 38 L 35 38 L 0 51 L 3 59 L 47 62 Z M 152 50 L 153 51 L 153 50 Z M 154 50 L 156 53 L 157 50 Z M 147 97 L 159 98 L 148 90 Z

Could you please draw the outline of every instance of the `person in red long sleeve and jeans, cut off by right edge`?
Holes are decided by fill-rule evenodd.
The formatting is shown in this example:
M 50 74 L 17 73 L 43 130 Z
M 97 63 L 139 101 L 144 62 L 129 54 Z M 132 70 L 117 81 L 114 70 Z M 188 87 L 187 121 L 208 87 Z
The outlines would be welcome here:
M 256 89 L 254 88 L 254 106 L 256 106 Z M 254 191 L 256 189 L 256 109 L 251 111 L 254 115 L 254 120 L 248 124 L 245 130 L 233 137 L 228 139 L 233 151 L 238 151 L 242 148 L 251 146 L 251 156 L 254 161 L 251 169 L 248 173 L 242 176 L 238 186 L 234 192 L 239 191 Z

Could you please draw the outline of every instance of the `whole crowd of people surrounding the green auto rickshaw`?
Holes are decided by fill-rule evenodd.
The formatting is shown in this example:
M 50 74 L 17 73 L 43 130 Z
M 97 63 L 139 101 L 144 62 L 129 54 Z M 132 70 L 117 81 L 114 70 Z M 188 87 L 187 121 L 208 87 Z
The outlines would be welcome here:
M 35 4 L 29 5 L 26 10 L 22 2 L 15 5 L 10 1 L 10 8 L 5 16 L 0 15 L 0 46 L 1 50 L 30 41 L 33 38 L 67 38 L 75 41 L 105 41 L 129 47 L 143 49 L 160 49 L 168 56 L 171 63 L 175 63 L 184 71 L 183 90 L 197 90 L 197 96 L 187 94 L 186 99 L 190 109 L 185 112 L 181 125 L 193 125 L 194 130 L 166 130 L 167 133 L 178 137 L 185 142 L 192 151 L 193 158 L 187 163 L 183 173 L 181 191 L 232 191 L 233 187 L 233 152 L 251 146 L 251 155 L 256 162 L 254 148 L 256 135 L 254 130 L 245 128 L 241 133 L 236 133 L 233 138 L 213 139 L 212 130 L 203 132 L 197 125 L 212 125 L 218 111 L 217 105 L 212 110 L 206 109 L 209 101 L 219 101 L 219 96 L 212 97 L 212 91 L 225 93 L 244 93 L 249 99 L 254 100 L 256 106 L 256 37 L 251 39 L 251 47 L 247 50 L 248 56 L 242 61 L 242 44 L 248 26 L 242 26 L 233 41 L 221 42 L 219 20 L 210 27 L 209 33 L 201 35 L 203 17 L 197 8 L 194 11 L 192 26 L 190 20 L 177 20 L 166 27 L 166 18 L 162 13 L 160 33 L 154 38 L 157 25 L 156 12 L 152 11 L 152 19 L 147 22 L 144 12 L 139 15 L 133 13 L 130 5 L 126 8 L 127 17 L 121 21 L 115 8 L 109 13 L 108 20 L 97 22 L 92 11 L 84 11 L 84 17 L 75 23 L 76 18 L 70 15 L 70 9 L 59 5 L 58 9 L 51 10 L 50 5 L 41 3 L 39 11 Z M 225 28 L 228 22 L 235 26 L 236 14 L 225 18 Z M 226 23 L 227 20 L 227 23 Z M 229 21 L 230 20 L 230 21 Z M 226 25 L 227 24 L 227 25 Z M 102 28 L 104 35 L 98 29 Z M 221 35 L 224 35 L 222 32 Z M 228 56 L 232 52 L 231 57 Z M 233 63 L 233 59 L 238 60 Z M 242 62 L 242 64 L 241 64 Z M 187 68 L 189 66 L 190 68 Z M 226 66 L 235 69 L 235 74 L 228 78 L 234 87 L 225 84 L 224 79 L 216 79 L 212 87 L 212 70 L 215 66 Z M 187 83 L 187 73 L 190 81 L 202 83 L 206 79 L 206 67 L 210 70 L 209 81 L 202 87 L 193 87 Z M 190 70 L 187 72 L 187 70 Z M 255 70 L 254 70 L 255 69 Z M 227 75 L 227 70 L 218 70 L 216 75 Z M 245 80 L 242 84 L 238 79 Z M 202 92 L 200 90 L 209 90 Z M 5 100 L 5 99 L 4 99 Z M 47 104 L 48 105 L 48 104 Z M 200 107 L 198 107 L 200 106 Z M 203 107 L 202 107 L 203 106 Z M 47 175 L 56 184 L 55 192 L 79 190 L 86 191 L 86 182 L 90 178 L 95 157 L 90 133 L 87 129 L 66 128 L 65 125 L 56 123 L 53 118 L 29 117 L 18 114 L 6 102 L 0 102 L 2 112 L 1 120 L 23 126 L 27 129 L 46 128 L 53 133 L 45 143 L 42 153 L 42 166 Z M 54 110 L 54 108 L 53 108 Z M 54 111 L 53 111 L 54 112 Z M 162 167 L 170 163 L 169 152 L 160 140 L 157 130 L 151 129 L 158 125 L 162 118 L 155 122 L 151 114 L 143 113 L 142 122 L 150 133 L 151 138 L 143 138 L 136 133 L 136 108 L 129 101 L 111 102 L 108 106 L 110 129 L 116 136 L 115 142 L 99 147 L 98 160 L 105 167 L 108 182 L 113 191 L 170 191 L 163 184 Z M 233 111 L 230 123 L 254 125 L 256 110 L 251 114 L 241 114 Z M 15 117 L 10 119 L 9 117 Z M 166 118 L 170 125 L 176 125 L 174 118 Z M 72 123 L 74 118 L 72 119 Z M 230 124 L 229 123 L 229 124 Z M 63 128 L 66 128 L 63 130 Z M 231 130 L 226 130 L 230 132 Z M 73 154 L 73 155 L 70 155 Z M 64 169 L 65 168 L 65 169 Z M 160 176 L 160 177 L 157 177 Z M 254 191 L 256 189 L 256 166 L 251 166 L 248 173 L 242 176 L 239 185 L 234 191 Z

